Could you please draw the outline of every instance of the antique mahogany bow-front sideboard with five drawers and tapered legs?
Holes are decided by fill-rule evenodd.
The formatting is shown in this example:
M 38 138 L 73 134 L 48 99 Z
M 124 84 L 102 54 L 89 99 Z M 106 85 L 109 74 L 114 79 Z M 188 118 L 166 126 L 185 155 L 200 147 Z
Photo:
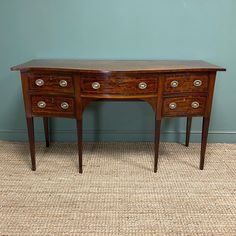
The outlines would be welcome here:
M 187 117 L 186 146 L 192 117 L 203 117 L 200 169 L 204 167 L 217 71 L 204 61 L 32 60 L 20 70 L 32 170 L 36 170 L 33 118 L 43 117 L 49 146 L 49 117 L 77 122 L 79 172 L 82 173 L 82 114 L 96 100 L 143 100 L 155 112 L 154 172 L 157 172 L 161 120 Z

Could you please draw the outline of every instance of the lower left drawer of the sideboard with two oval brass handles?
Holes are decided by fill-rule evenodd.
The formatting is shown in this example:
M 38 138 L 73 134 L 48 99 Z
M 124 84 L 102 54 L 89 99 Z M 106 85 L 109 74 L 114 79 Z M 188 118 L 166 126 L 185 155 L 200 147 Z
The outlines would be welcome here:
M 75 102 L 73 98 L 61 96 L 32 96 L 32 113 L 34 115 L 73 116 Z

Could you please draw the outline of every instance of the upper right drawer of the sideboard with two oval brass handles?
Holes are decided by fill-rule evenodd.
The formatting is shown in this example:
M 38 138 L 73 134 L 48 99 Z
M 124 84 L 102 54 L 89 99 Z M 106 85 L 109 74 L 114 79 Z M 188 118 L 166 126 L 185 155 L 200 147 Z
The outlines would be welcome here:
M 207 92 L 209 76 L 207 73 L 178 73 L 165 76 L 165 93 Z

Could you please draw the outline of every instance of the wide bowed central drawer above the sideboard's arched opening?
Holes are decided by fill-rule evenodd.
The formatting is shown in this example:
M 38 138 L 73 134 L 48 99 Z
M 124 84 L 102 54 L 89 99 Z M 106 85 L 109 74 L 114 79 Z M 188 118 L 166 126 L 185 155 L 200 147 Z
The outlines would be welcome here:
M 152 94 L 157 92 L 157 78 L 148 76 L 81 77 L 81 93 Z

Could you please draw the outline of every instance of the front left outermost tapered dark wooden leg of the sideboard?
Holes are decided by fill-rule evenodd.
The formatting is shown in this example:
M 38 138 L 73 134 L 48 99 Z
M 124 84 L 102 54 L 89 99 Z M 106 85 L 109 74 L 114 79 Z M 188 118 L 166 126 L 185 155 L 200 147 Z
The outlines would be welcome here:
M 26 120 L 27 120 L 27 128 L 28 128 L 32 170 L 35 171 L 36 170 L 36 161 L 35 161 L 35 141 L 34 141 L 34 118 L 27 117 Z

